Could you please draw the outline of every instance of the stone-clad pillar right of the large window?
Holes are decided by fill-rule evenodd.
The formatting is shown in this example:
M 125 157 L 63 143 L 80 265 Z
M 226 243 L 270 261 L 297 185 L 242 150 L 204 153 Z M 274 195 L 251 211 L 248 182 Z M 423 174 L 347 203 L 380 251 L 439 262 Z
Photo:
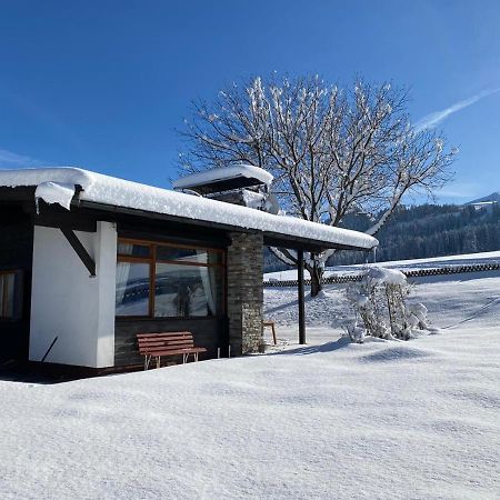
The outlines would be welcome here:
M 228 318 L 231 354 L 258 352 L 262 338 L 262 233 L 231 233 L 228 249 Z

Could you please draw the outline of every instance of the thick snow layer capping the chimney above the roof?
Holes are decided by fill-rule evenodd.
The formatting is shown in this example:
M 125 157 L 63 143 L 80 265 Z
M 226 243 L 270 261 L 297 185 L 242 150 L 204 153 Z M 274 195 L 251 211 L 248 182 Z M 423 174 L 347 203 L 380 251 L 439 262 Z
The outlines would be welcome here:
M 211 182 L 236 179 L 244 177 L 247 179 L 258 179 L 263 184 L 270 186 L 272 182 L 272 174 L 266 170 L 251 164 L 237 164 L 233 167 L 224 167 L 220 169 L 210 169 L 203 172 L 192 173 L 173 181 L 174 189 L 194 188 Z

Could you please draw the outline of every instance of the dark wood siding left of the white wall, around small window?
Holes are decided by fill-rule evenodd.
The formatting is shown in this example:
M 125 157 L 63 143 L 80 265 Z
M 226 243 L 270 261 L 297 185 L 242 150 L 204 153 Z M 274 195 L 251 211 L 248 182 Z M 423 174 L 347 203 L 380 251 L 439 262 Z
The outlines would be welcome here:
M 20 317 L 0 320 L 0 360 L 28 359 L 30 336 L 33 224 L 20 206 L 0 204 L 0 270 L 19 271 L 16 278 Z

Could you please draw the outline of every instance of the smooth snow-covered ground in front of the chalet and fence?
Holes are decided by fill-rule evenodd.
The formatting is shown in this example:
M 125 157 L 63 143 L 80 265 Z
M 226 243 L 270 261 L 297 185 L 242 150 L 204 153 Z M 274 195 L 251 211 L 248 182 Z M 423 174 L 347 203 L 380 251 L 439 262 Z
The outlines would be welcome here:
M 0 381 L 1 498 L 499 498 L 500 273 L 489 276 L 418 284 L 443 330 L 408 342 L 339 338 L 348 311 L 329 287 L 307 303 L 310 343 L 293 346 L 296 290 L 267 289 L 278 352 Z

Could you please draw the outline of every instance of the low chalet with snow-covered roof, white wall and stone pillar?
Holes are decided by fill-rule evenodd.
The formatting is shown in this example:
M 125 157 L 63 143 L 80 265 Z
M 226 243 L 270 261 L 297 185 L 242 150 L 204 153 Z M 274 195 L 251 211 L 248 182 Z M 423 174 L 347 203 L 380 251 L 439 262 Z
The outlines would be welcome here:
M 254 352 L 263 246 L 376 244 L 76 168 L 0 170 L 0 358 L 118 369 L 142 362 L 138 332 L 168 331 L 192 332 L 208 357 Z

